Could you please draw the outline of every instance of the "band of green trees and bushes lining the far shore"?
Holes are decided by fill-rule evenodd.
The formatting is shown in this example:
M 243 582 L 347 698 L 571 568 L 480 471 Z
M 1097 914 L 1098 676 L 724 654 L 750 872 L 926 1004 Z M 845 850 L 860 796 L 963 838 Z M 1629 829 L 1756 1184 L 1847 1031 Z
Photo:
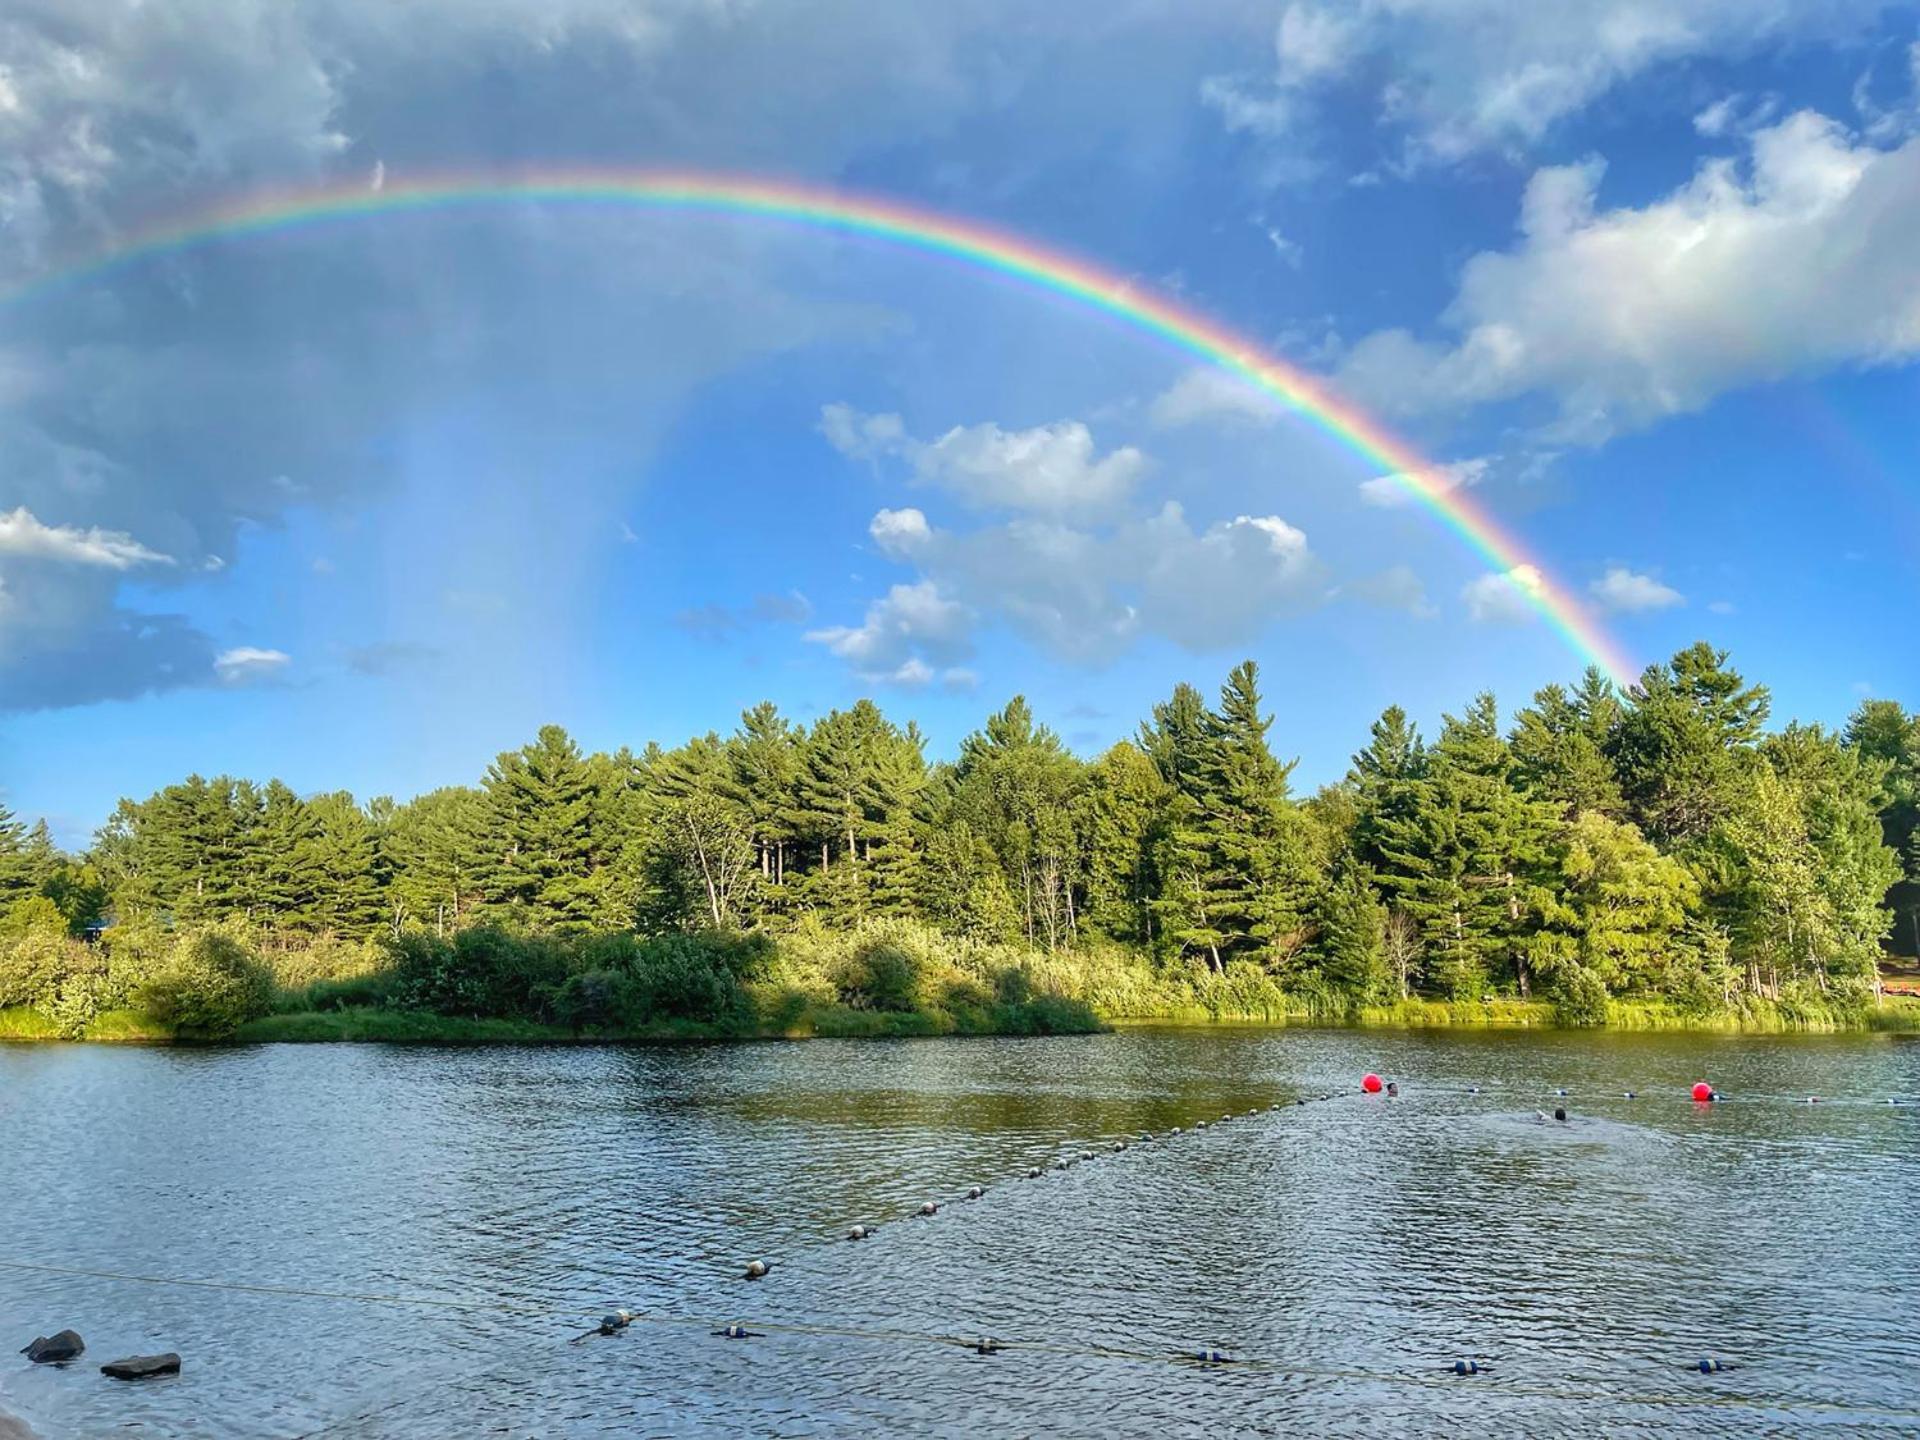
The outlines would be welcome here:
M 1492 695 L 1430 735 L 1388 708 L 1313 793 L 1252 662 L 1094 758 L 1018 697 L 925 749 L 872 701 L 810 726 L 758 705 L 676 749 L 547 726 L 407 803 L 188 776 L 84 854 L 0 810 L 0 1014 L 67 1037 L 271 1012 L 282 1037 L 1864 1023 L 1884 954 L 1920 950 L 1920 714 L 1774 726 L 1703 643 L 1511 724 Z

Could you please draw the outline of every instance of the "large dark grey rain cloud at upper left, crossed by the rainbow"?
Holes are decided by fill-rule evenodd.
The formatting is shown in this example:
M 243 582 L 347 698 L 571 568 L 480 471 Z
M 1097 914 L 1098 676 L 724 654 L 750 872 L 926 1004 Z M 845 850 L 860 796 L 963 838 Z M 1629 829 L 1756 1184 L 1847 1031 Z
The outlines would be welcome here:
M 1073 10 L 12 0 L 0 21 L 0 288 L 113 250 L 157 217 L 307 184 L 392 194 L 447 165 L 511 173 L 568 156 L 845 175 L 876 146 L 945 144 L 991 113 L 1027 129 L 1020 165 L 1031 179 L 1081 157 L 1087 131 L 1066 109 L 1100 113 L 1114 152 L 1144 163 L 1190 108 L 1202 56 L 1263 23 L 1167 12 L 1089 27 Z M 1000 46 L 1010 25 L 1029 44 Z M 1071 96 L 1052 83 L 1064 50 L 1075 75 L 1100 77 Z M 551 643 L 586 584 L 557 557 L 612 534 L 626 499 L 616 482 L 589 493 L 597 482 L 582 474 L 545 547 L 511 532 L 499 516 L 553 449 L 593 434 L 607 451 L 645 455 L 712 376 L 891 323 L 841 301 L 837 282 L 814 282 L 812 240 L 756 227 L 559 221 L 528 205 L 376 238 L 348 227 L 188 250 L 10 307 L 6 507 L 50 528 L 132 536 L 177 563 L 75 566 L 58 603 L 48 574 L 10 570 L 0 703 L 213 682 L 217 647 L 169 616 L 163 591 L 205 584 L 217 595 L 228 582 L 209 576 L 242 559 L 244 528 L 271 528 L 290 507 L 338 511 L 438 484 L 420 478 L 442 463 L 430 432 L 455 413 L 488 430 L 467 436 L 470 453 L 530 436 L 516 478 L 468 476 L 461 503 L 403 495 L 434 511 L 438 545 L 403 551 L 407 528 L 394 526 L 357 559 L 405 574 L 422 603 L 467 584 L 459 570 L 486 570 L 518 632 L 490 634 L 492 659 L 507 662 L 515 647 Z M 636 348 L 636 334 L 649 344 Z M 532 367 L 530 346 L 543 346 Z M 98 584 L 113 576 L 140 584 Z

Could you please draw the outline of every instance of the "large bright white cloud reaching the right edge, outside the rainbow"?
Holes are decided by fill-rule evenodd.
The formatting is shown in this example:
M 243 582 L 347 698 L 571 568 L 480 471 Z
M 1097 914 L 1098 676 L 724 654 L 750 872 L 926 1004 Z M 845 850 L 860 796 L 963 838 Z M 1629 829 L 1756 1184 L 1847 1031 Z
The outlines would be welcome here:
M 1342 392 L 1400 411 L 1546 394 L 1549 432 L 1597 444 L 1716 396 L 1836 365 L 1920 355 L 1920 138 L 1853 140 L 1803 111 L 1665 200 L 1601 211 L 1601 167 L 1538 171 L 1521 242 L 1473 257 L 1450 346 L 1361 340 Z

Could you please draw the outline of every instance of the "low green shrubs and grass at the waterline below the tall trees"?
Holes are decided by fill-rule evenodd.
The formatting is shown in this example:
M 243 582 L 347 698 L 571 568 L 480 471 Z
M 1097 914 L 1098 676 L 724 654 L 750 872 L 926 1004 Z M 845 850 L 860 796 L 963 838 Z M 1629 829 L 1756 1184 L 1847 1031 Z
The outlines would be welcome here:
M 566 1044 L 808 1037 L 1083 1035 L 1129 1023 L 1578 1023 L 1628 1031 L 1920 1031 L 1920 996 L 1786 991 L 1736 1004 L 1607 996 L 1365 1002 L 1256 964 L 1213 972 L 1121 947 L 1037 952 L 910 922 L 764 935 L 570 939 L 463 931 L 382 945 L 257 948 L 244 933 L 63 943 L 40 1004 L 0 1008 L 10 1041 Z M 4 996 L 0 996 L 4 998 Z

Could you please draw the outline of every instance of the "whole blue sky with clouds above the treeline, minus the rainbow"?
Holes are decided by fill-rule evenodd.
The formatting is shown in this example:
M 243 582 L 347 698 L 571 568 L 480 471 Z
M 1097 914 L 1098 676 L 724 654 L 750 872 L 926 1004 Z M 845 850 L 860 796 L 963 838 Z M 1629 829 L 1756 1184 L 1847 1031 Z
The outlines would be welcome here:
M 1920 701 L 1920 10 L 1786 0 L 27 0 L 0 288 L 445 169 L 895 196 L 1258 336 L 1640 660 Z M 1580 659 L 1377 470 L 1108 317 L 751 221 L 501 205 L 0 303 L 0 801 L 411 795 L 876 695 L 1079 749 L 1261 662 L 1336 778 Z

